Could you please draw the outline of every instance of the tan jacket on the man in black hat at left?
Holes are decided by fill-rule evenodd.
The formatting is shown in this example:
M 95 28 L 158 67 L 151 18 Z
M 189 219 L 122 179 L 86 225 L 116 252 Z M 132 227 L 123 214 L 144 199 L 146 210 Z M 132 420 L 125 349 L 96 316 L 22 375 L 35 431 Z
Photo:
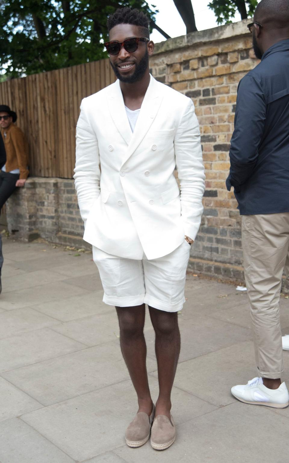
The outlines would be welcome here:
M 8 129 L 1 129 L 6 150 L 6 172 L 20 170 L 20 179 L 26 179 L 29 174 L 28 143 L 21 129 L 16 125 L 9 125 Z

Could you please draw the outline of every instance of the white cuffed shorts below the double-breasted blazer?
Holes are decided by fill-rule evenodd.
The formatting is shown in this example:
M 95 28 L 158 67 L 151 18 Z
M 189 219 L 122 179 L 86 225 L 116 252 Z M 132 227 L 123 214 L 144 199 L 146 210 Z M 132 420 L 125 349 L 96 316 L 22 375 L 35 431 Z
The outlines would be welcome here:
M 134 307 L 145 303 L 166 312 L 178 312 L 184 304 L 186 269 L 190 244 L 185 240 L 170 254 L 158 259 L 125 259 L 92 246 L 105 291 L 103 301 L 110 306 Z

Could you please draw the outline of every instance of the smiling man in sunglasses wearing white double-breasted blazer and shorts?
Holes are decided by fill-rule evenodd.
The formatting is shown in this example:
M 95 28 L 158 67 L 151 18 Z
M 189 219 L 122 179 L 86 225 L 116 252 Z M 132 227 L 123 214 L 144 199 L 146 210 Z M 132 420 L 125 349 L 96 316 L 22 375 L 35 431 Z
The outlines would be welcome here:
M 84 239 L 92 244 L 104 302 L 116 306 L 121 350 L 137 393 L 138 413 L 126 442 L 139 447 L 151 432 L 153 448 L 163 450 L 176 436 L 170 410 L 180 350 L 178 311 L 203 212 L 200 132 L 191 99 L 149 74 L 154 43 L 147 17 L 118 9 L 108 30 L 105 46 L 118 80 L 81 103 L 75 187 Z M 155 406 L 146 370 L 145 304 L 156 335 Z

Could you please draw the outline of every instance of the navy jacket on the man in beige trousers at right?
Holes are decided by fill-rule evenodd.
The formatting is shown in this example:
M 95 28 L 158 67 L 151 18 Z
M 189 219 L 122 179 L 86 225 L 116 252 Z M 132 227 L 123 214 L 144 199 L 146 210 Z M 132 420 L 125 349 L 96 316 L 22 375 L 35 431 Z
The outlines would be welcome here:
M 289 212 L 289 40 L 239 83 L 230 163 L 240 214 Z

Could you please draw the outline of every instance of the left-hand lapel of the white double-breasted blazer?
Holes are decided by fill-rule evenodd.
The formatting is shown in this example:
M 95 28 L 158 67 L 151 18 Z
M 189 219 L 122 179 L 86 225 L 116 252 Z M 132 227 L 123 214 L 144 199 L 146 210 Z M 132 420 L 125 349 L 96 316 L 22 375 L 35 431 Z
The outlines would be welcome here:
M 111 118 L 115 123 L 117 130 L 123 137 L 126 144 L 129 145 L 133 134 L 125 111 L 123 94 L 119 86 L 119 80 L 112 85 L 112 92 L 107 97 L 107 104 L 109 112 L 111 113 Z

